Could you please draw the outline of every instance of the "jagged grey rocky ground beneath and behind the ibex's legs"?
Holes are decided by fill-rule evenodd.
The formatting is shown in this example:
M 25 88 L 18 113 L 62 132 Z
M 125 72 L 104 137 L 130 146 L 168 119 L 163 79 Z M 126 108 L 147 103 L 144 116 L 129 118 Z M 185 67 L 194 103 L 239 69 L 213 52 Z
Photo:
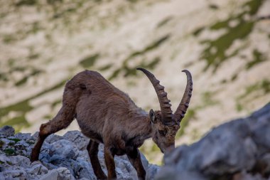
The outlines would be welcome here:
M 0 129 L 0 179 L 96 179 L 86 150 L 89 139 L 80 132 L 70 131 L 63 136 L 50 135 L 41 149 L 40 161 L 31 163 L 29 156 L 37 135 L 14 134 L 14 129 L 9 126 Z M 102 147 L 99 147 L 98 156 L 106 172 Z M 148 164 L 144 154 L 141 157 L 147 179 L 153 179 L 159 167 Z M 114 159 L 119 179 L 137 179 L 136 170 L 126 156 Z

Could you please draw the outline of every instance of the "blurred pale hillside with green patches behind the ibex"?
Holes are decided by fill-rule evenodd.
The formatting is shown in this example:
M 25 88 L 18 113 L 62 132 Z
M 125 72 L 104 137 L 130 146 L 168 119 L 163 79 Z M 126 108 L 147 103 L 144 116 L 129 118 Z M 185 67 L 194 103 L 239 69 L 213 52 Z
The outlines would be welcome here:
M 102 73 L 147 112 L 159 109 L 143 67 L 175 111 L 193 74 L 176 144 L 270 100 L 270 0 L 0 0 L 0 127 L 36 132 L 61 106 L 65 82 Z M 67 130 L 79 129 L 77 122 Z M 163 154 L 147 140 L 151 163 Z

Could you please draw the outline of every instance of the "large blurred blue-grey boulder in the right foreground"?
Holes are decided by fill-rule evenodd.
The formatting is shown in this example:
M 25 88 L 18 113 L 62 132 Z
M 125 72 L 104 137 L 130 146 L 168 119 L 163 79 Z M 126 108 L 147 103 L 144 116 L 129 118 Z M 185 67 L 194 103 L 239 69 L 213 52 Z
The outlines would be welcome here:
M 212 129 L 195 144 L 176 148 L 156 179 L 270 179 L 270 103 Z

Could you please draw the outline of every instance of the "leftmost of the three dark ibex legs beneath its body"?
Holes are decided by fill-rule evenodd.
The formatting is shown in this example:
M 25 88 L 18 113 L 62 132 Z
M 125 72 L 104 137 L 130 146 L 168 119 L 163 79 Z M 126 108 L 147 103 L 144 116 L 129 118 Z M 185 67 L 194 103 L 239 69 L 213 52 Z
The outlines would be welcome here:
M 102 167 L 100 166 L 99 159 L 97 157 L 97 153 L 99 152 L 99 143 L 90 140 L 87 146 L 87 151 L 97 179 L 107 179 L 107 176 L 102 171 Z

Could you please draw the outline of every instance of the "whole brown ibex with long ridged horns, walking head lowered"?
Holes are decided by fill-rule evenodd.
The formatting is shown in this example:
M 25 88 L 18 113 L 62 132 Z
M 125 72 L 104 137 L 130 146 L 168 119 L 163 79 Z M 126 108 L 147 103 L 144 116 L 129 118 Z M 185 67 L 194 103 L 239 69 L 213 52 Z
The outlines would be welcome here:
M 123 154 L 127 154 L 139 179 L 145 179 L 146 171 L 141 163 L 138 148 L 149 137 L 153 138 L 161 152 L 174 147 L 175 134 L 188 109 L 193 83 L 190 72 L 183 70 L 188 82 L 180 105 L 173 114 L 164 87 L 148 70 L 137 70 L 143 71 L 153 84 L 161 110 L 145 112 L 102 75 L 85 70 L 68 81 L 60 111 L 53 120 L 41 125 L 31 161 L 38 160 L 41 146 L 48 135 L 68 127 L 76 118 L 82 133 L 90 137 L 87 150 L 97 179 L 116 179 L 114 155 Z M 102 171 L 97 157 L 99 143 L 104 143 L 108 176 Z

